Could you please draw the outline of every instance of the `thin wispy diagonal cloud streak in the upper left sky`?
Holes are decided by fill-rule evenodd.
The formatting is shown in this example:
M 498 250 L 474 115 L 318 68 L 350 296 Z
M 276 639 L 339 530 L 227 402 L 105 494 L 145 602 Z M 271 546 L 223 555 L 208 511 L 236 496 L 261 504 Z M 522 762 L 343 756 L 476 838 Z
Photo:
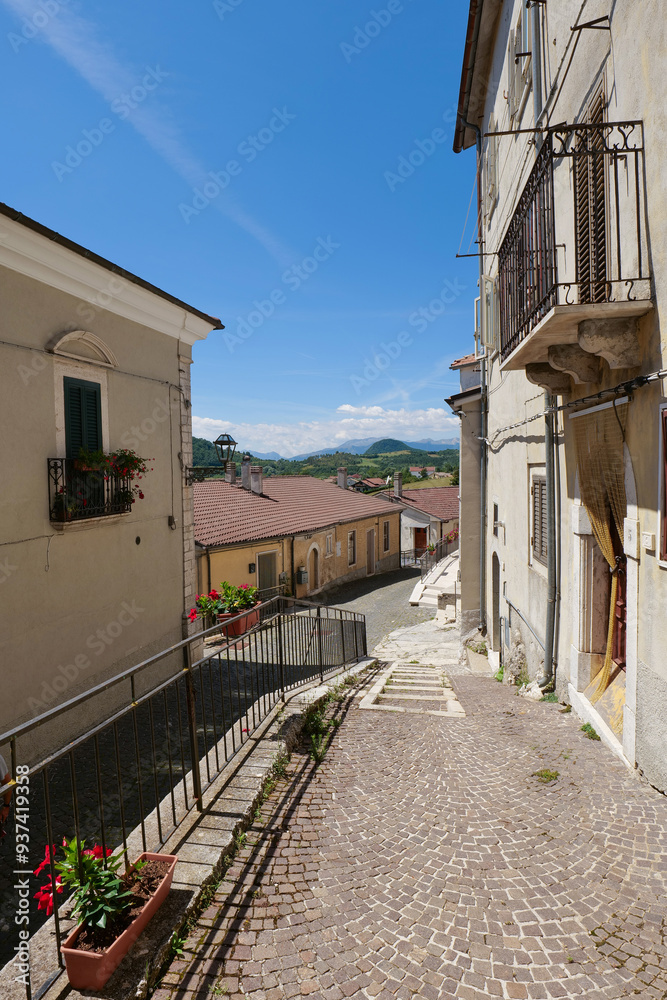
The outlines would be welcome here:
M 37 0 L 0 0 L 19 18 L 31 20 L 43 8 Z M 40 20 L 38 23 L 42 23 Z M 107 103 L 136 86 L 145 67 L 135 70 L 119 62 L 110 43 L 98 38 L 96 26 L 74 11 L 61 8 L 41 27 L 39 36 Z M 202 184 L 210 167 L 203 166 L 190 152 L 169 108 L 152 98 L 150 106 L 137 108 L 128 118 L 129 124 L 142 136 L 160 158 L 185 180 L 190 187 Z M 215 167 L 216 164 L 213 164 Z M 229 193 L 215 202 L 219 212 L 252 236 L 285 267 L 297 256 L 270 230 L 254 219 Z

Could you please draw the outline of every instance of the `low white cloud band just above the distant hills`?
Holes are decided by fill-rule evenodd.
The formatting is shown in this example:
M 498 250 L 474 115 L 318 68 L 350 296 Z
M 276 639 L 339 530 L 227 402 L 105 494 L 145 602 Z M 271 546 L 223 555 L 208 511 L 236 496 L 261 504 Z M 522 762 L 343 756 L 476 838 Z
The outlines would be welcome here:
M 459 422 L 441 408 L 427 410 L 386 410 L 382 406 L 337 408 L 341 416 L 331 420 L 299 421 L 293 424 L 237 424 L 212 417 L 192 418 L 195 437 L 213 441 L 218 434 L 231 434 L 241 448 L 260 452 L 277 451 L 289 458 L 317 448 L 335 448 L 355 438 L 395 437 L 419 441 L 424 438 L 450 440 L 458 437 Z

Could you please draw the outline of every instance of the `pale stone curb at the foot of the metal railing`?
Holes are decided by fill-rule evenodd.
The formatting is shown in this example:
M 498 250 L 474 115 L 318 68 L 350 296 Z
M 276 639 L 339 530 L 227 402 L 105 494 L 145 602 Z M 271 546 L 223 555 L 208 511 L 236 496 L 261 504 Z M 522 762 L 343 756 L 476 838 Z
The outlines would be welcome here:
M 204 792 L 203 812 L 188 815 L 161 849 L 165 854 L 179 857 L 171 891 L 107 985 L 92 995 L 100 1000 L 143 1000 L 150 994 L 169 961 L 172 938 L 200 908 L 207 887 L 217 881 L 232 854 L 237 835 L 252 824 L 276 760 L 283 753 L 291 753 L 299 740 L 305 710 L 320 702 L 341 681 L 357 676 L 375 662 L 375 658 L 367 657 L 330 675 L 324 684 L 311 682 L 288 693 L 284 702 L 278 702 Z M 52 926 L 48 937 L 51 940 L 43 944 L 53 953 Z M 8 994 L 3 993 L 3 1000 L 5 996 L 7 1000 L 24 1000 L 25 987 L 16 984 L 14 990 L 13 985 Z M 90 1000 L 90 997 L 88 992 L 72 989 L 63 974 L 42 994 L 41 1000 Z

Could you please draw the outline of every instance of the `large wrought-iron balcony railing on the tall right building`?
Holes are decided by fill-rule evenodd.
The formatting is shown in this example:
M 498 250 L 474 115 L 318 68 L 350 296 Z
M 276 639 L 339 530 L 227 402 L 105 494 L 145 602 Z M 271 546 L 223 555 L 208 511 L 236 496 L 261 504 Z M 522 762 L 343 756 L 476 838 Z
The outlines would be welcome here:
M 651 297 L 641 121 L 545 136 L 499 253 L 501 356 L 558 305 Z

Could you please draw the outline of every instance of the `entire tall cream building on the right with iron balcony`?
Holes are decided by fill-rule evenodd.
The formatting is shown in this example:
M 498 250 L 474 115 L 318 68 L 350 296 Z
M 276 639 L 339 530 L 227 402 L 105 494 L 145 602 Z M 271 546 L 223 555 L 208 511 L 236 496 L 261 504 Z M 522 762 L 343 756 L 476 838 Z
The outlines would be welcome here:
M 449 402 L 465 630 L 667 791 L 664 51 L 656 2 L 471 0 L 478 324 Z

